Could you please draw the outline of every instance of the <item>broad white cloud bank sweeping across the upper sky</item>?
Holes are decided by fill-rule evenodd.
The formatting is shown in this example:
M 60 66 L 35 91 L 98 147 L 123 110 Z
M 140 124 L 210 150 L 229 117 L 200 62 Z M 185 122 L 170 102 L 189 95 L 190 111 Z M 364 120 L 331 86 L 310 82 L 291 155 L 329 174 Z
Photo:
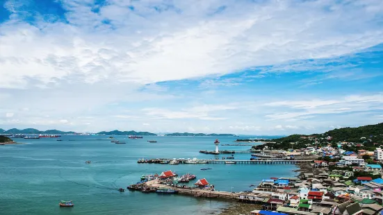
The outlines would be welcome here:
M 28 7 L 8 7 L 14 15 L 0 25 L 1 87 L 148 84 L 330 58 L 383 42 L 379 0 L 177 1 L 168 8 L 165 1 L 110 1 L 98 13 L 89 2 L 62 3 L 69 23 L 36 19 L 31 26 L 20 20 Z

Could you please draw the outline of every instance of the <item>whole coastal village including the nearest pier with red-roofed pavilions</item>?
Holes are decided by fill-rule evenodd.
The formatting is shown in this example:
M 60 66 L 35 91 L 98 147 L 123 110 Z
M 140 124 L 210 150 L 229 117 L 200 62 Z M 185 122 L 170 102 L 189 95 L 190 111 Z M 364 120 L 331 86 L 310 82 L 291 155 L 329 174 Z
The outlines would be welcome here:
M 335 142 L 329 135 L 295 136 L 298 141 L 287 144 L 290 148 L 274 148 L 278 146 L 275 141 L 252 146 L 252 151 L 259 150 L 261 153 L 252 155 L 251 160 L 267 159 L 270 161 L 268 164 L 276 160 L 302 161 L 295 163 L 300 167 L 296 178 L 274 178 L 270 175 L 270 178 L 256 184 L 252 191 L 216 191 L 206 178 L 199 179 L 191 187 L 179 185 L 179 178 L 172 171 L 165 171 L 158 179 L 128 188 L 140 191 L 160 189 L 160 192 L 165 189 L 165 192 L 195 197 L 234 199 L 254 205 L 254 209 L 247 212 L 252 215 L 383 214 L 383 148 L 380 148 L 381 140 L 374 141 L 381 139 L 382 135 L 374 137 L 370 135 L 359 137 L 357 141 Z M 286 146 L 286 142 L 283 145 Z M 218 152 L 218 148 L 215 151 Z

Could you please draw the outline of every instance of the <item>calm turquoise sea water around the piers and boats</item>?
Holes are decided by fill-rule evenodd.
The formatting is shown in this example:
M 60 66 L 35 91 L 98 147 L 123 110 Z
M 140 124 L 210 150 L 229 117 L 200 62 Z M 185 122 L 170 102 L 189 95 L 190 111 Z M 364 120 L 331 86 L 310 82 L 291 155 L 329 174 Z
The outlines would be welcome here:
M 0 214 L 208 214 L 228 203 L 128 190 L 120 193 L 116 188 L 138 182 L 142 174 L 167 170 L 206 178 L 221 191 L 250 190 L 250 184 L 258 184 L 263 178 L 295 175 L 293 170 L 297 167 L 291 164 L 137 163 L 142 157 L 222 157 L 199 153 L 199 150 L 213 150 L 215 138 L 116 137 L 127 144 L 111 143 L 106 136 L 63 136 L 60 138 L 63 141 L 17 139 L 26 144 L 0 146 Z M 238 137 L 218 138 L 221 144 L 234 144 Z M 158 142 L 148 143 L 148 139 Z M 220 146 L 222 150 L 248 148 Z M 248 160 L 250 154 L 234 157 Z M 92 163 L 85 164 L 86 160 Z M 201 171 L 202 168 L 211 170 Z M 75 206 L 60 208 L 60 200 L 73 200 Z

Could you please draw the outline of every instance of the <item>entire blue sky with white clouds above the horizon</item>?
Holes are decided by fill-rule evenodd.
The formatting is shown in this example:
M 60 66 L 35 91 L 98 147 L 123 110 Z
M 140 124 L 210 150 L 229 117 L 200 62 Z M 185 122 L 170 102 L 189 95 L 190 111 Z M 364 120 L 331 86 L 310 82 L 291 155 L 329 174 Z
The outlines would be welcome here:
M 0 128 L 288 135 L 383 121 L 383 1 L 0 1 Z

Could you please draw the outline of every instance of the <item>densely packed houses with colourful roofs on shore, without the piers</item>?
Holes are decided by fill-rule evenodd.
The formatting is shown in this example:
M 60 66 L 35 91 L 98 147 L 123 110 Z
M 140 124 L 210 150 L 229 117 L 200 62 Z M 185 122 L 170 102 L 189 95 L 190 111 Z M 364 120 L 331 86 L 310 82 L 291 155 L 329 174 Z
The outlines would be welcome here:
M 262 205 L 262 210 L 251 212 L 255 215 L 380 214 L 383 209 L 382 166 L 366 164 L 362 156 L 382 157 L 382 150 L 341 155 L 339 150 L 327 148 L 323 152 L 339 156 L 339 162 L 316 160 L 312 168 L 323 169 L 323 173 L 304 173 L 301 178 L 264 179 L 252 192 L 238 193 L 238 200 Z M 329 172 L 327 167 L 331 165 L 352 166 L 352 171 L 348 168 Z M 358 175 L 365 173 L 366 176 L 355 178 L 357 171 Z M 379 175 L 379 178 L 368 175 Z

